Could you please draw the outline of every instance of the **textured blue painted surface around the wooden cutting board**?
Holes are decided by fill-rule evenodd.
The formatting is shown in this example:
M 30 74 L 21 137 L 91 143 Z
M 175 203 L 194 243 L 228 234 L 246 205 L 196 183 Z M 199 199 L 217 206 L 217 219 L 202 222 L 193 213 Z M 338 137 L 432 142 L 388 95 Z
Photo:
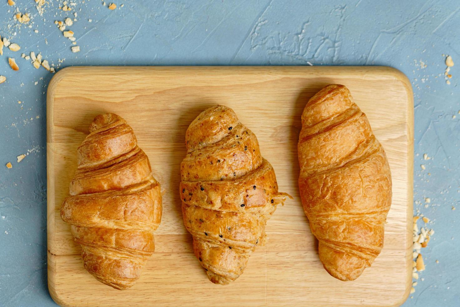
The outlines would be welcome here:
M 458 306 L 458 0 L 131 0 L 123 7 L 123 2 L 115 2 L 114 11 L 107 8 L 109 1 L 103 6 L 99 0 L 75 0 L 71 12 L 58 9 L 62 1 L 49 0 L 43 16 L 34 1 L 16 0 L 13 7 L 1 2 L 0 35 L 21 50 L 4 48 L 0 57 L 0 75 L 7 77 L 0 84 L 0 306 L 54 304 L 46 284 L 46 86 L 52 74 L 21 58 L 22 52 L 31 51 L 41 52 L 60 68 L 310 62 L 402 70 L 414 87 L 414 210 L 429 217 L 428 227 L 436 232 L 423 249 L 424 280 L 418 280 L 405 305 Z M 31 28 L 12 19 L 16 8 L 30 13 Z M 69 29 L 81 47 L 78 53 L 71 52 L 71 42 L 53 23 L 74 18 L 74 12 L 77 21 Z M 458 62 L 451 69 L 450 85 L 443 76 L 443 54 Z M 17 72 L 7 63 L 13 55 L 20 67 Z M 27 153 L 16 162 L 16 156 Z M 424 153 L 431 159 L 424 160 Z M 6 162 L 13 168 L 7 169 Z

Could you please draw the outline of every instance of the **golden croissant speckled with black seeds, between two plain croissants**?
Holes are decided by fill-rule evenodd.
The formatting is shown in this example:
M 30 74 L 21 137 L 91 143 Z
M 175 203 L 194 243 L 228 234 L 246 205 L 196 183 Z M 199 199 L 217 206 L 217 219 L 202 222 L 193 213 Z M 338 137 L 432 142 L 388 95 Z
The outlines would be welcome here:
M 251 130 L 225 106 L 214 106 L 187 129 L 181 163 L 184 224 L 196 257 L 214 284 L 229 284 L 265 241 L 265 224 L 285 200 Z

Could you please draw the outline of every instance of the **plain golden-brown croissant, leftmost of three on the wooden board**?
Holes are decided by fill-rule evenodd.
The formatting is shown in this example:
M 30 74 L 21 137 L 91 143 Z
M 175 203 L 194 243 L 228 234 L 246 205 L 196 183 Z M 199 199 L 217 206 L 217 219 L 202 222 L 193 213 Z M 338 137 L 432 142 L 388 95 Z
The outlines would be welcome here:
M 132 128 L 120 116 L 98 115 L 78 147 L 70 197 L 61 207 L 86 270 L 115 289 L 131 287 L 155 249 L 160 184 Z

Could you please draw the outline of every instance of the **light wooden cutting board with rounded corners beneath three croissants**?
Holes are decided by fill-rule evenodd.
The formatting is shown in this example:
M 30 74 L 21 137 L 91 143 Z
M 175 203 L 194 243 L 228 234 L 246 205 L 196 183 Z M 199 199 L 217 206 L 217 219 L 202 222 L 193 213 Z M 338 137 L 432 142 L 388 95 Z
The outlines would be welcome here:
M 356 281 L 341 282 L 322 268 L 305 218 L 297 178 L 300 115 L 330 83 L 347 86 L 385 148 L 393 203 L 385 245 Z M 192 252 L 178 195 L 184 135 L 204 109 L 224 104 L 259 139 L 279 190 L 293 196 L 268 221 L 269 241 L 227 286 L 208 281 Z M 401 72 L 388 67 L 71 67 L 48 88 L 48 287 L 60 305 L 256 306 L 399 305 L 411 282 L 413 95 Z M 166 190 L 155 254 L 131 289 L 99 283 L 83 267 L 80 247 L 59 216 L 76 168 L 76 149 L 92 118 L 114 112 L 132 126 Z

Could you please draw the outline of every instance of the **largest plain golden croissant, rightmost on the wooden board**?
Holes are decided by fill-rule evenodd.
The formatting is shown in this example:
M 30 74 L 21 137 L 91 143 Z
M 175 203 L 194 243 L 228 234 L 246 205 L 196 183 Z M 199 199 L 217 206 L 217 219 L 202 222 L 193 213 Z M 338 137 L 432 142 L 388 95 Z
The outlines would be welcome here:
M 298 151 L 300 196 L 319 258 L 333 277 L 354 280 L 382 250 L 391 174 L 345 86 L 328 85 L 308 101 Z

